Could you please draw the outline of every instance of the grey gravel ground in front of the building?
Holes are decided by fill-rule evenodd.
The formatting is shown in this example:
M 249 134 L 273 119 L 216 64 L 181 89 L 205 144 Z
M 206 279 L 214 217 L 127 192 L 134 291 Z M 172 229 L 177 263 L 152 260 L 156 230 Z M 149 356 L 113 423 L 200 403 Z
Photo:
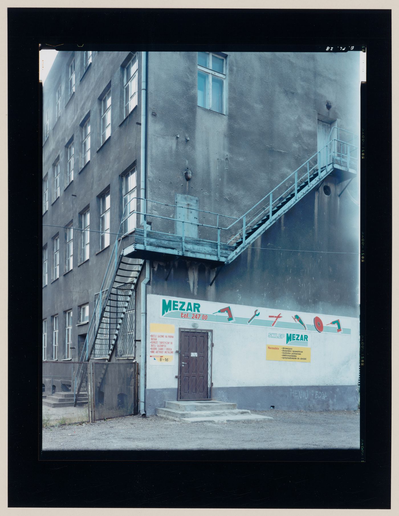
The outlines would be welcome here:
M 359 448 L 359 411 L 251 411 L 273 420 L 181 423 L 164 417 L 119 417 L 43 428 L 43 450 Z M 184 443 L 184 448 L 182 444 Z

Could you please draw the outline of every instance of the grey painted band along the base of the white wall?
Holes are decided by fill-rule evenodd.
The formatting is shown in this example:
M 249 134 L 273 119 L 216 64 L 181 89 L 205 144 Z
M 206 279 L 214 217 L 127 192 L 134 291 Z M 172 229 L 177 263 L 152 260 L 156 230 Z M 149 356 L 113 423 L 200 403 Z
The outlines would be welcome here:
M 146 413 L 155 414 L 165 401 L 177 399 L 177 389 L 147 389 Z M 282 385 L 261 387 L 214 387 L 212 399 L 236 403 L 237 409 L 269 410 L 356 410 L 356 385 Z

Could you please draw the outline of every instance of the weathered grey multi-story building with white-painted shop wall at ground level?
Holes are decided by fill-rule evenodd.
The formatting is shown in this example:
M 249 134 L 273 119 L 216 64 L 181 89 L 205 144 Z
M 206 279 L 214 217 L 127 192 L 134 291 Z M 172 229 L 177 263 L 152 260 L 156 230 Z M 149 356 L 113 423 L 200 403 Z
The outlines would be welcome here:
M 43 360 L 137 362 L 147 414 L 355 409 L 359 86 L 351 52 L 59 52 Z

